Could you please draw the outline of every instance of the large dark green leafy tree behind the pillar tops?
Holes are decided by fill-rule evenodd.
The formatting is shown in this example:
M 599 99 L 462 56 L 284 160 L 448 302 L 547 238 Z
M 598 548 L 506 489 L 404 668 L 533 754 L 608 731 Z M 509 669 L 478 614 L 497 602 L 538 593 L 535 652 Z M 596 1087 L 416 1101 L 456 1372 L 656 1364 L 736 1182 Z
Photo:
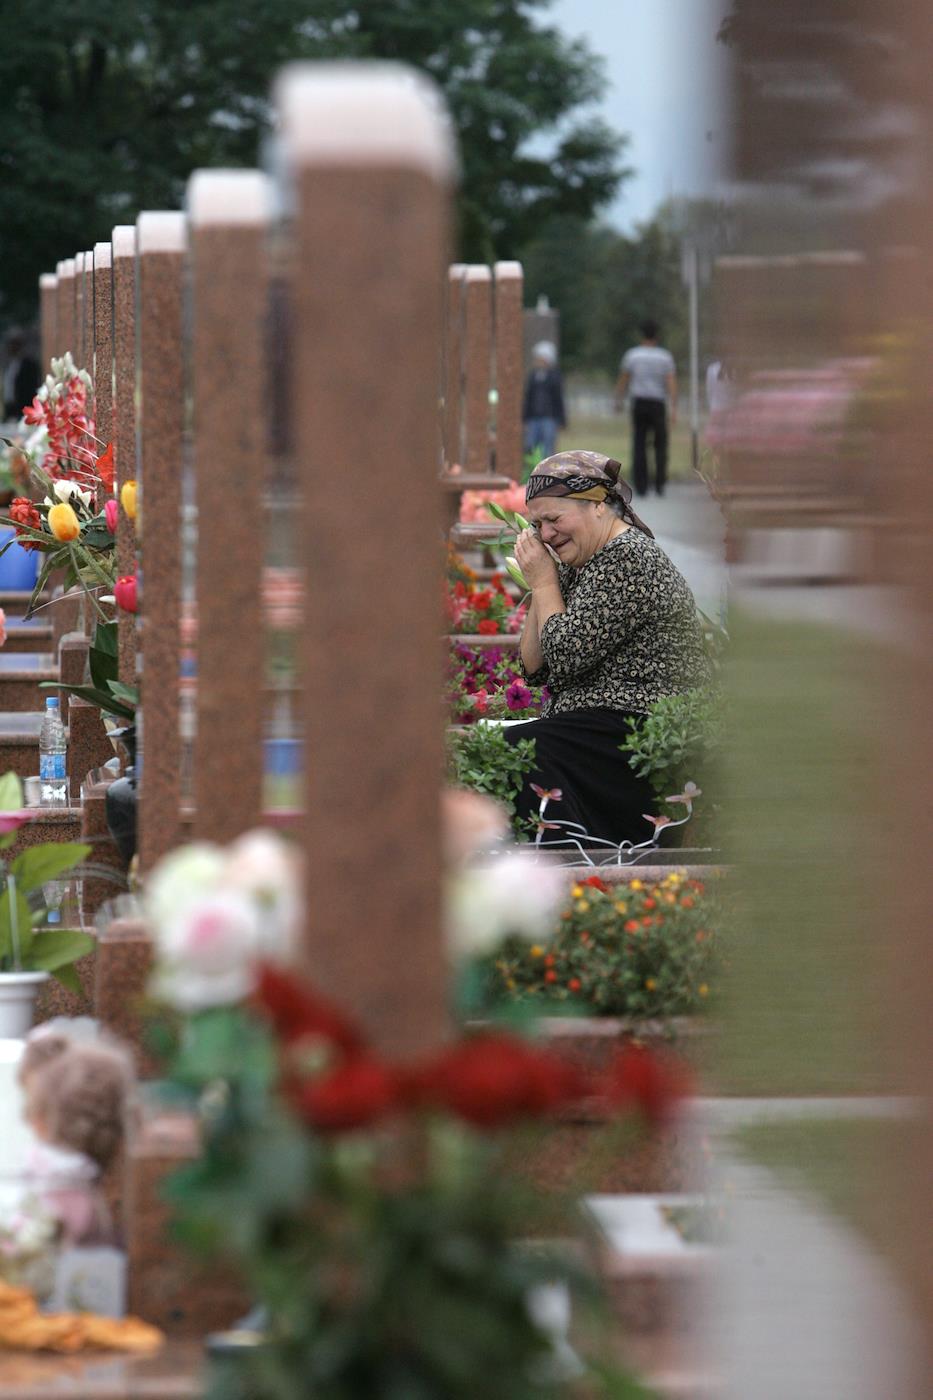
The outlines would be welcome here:
M 579 115 L 602 84 L 549 0 L 1 0 L 0 316 L 36 277 L 189 172 L 255 165 L 269 84 L 296 57 L 427 71 L 459 137 L 459 252 L 516 256 L 555 214 L 590 217 L 625 176 L 622 137 Z

